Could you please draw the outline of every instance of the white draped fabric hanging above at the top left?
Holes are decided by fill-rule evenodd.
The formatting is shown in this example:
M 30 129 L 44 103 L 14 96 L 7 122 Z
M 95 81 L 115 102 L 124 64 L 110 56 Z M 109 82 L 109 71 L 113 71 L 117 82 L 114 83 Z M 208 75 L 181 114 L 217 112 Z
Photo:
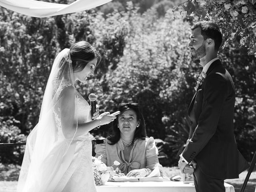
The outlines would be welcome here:
M 76 0 L 71 4 L 58 4 L 37 0 L 0 0 L 0 6 L 32 17 L 50 17 L 88 10 L 110 1 Z

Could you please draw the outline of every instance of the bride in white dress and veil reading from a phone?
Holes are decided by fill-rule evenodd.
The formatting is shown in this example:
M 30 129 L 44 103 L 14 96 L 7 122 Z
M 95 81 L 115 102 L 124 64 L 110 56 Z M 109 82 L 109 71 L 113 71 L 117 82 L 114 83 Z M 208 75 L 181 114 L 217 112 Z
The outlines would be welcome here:
M 90 105 L 75 89 L 94 74 L 100 54 L 85 41 L 62 50 L 54 60 L 39 122 L 29 134 L 17 192 L 96 192 L 89 131 L 116 117 Z

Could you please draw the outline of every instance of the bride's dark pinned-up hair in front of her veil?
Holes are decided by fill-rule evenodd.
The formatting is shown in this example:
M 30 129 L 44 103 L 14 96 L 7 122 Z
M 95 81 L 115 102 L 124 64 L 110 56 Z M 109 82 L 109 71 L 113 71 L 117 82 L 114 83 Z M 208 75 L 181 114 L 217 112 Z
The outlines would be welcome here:
M 98 58 L 95 68 L 101 60 L 100 53 L 86 41 L 80 41 L 70 46 L 70 57 L 72 60 L 73 72 L 82 71 L 88 62 Z

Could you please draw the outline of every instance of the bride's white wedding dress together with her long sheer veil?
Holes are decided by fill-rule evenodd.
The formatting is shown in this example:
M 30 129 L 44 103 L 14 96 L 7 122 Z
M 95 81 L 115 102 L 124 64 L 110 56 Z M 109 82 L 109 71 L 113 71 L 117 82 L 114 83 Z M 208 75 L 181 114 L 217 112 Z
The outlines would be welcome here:
M 72 138 L 65 138 L 63 134 L 61 112 L 66 105 L 60 100 L 65 88 L 74 90 L 73 99 L 66 100 L 74 107 L 74 124 L 86 122 L 90 112 L 88 102 L 74 87 L 68 53 L 69 49 L 62 50 L 54 61 L 39 122 L 26 142 L 17 192 L 96 192 L 92 170 L 93 136 L 90 133 L 76 136 L 77 126 L 70 128 L 74 131 Z

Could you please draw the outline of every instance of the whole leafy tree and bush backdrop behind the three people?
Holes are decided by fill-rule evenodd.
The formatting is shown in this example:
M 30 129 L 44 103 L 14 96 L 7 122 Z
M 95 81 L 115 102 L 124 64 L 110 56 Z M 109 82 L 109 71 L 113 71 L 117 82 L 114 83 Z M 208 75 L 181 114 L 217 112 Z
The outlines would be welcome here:
M 222 0 L 206 2 L 113 0 L 86 12 L 50 18 L 32 18 L 1 7 L 0 143 L 26 142 L 38 122 L 55 56 L 70 44 L 86 40 L 101 52 L 102 61 L 93 78 L 77 84 L 79 92 L 86 100 L 95 93 L 100 112 L 114 112 L 120 102 L 138 102 L 147 134 L 156 139 L 160 162 L 176 166 L 188 138 L 187 108 L 202 70 L 191 61 L 187 48 L 190 26 L 205 19 L 218 22 L 227 40 L 219 58 L 236 87 L 234 134 L 239 150 L 251 161 L 256 150 L 255 28 L 243 18 L 243 27 L 236 26 L 241 20 L 228 15 Z M 246 4 L 241 2 L 245 1 L 228 4 L 242 13 Z M 248 12 L 255 18 L 250 6 Z M 248 34 L 242 34 L 246 28 Z M 91 133 L 99 138 L 109 128 L 105 125 Z M 0 146 L 0 170 L 19 166 L 23 154 L 24 146 Z

